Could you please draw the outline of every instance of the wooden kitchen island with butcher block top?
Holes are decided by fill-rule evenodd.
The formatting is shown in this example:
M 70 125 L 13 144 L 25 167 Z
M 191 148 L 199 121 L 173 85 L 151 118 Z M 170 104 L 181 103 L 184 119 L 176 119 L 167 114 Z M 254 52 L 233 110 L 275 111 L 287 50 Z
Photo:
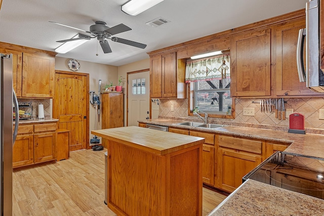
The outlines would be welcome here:
M 138 126 L 91 133 L 108 140 L 107 205 L 117 215 L 201 215 L 205 139 Z

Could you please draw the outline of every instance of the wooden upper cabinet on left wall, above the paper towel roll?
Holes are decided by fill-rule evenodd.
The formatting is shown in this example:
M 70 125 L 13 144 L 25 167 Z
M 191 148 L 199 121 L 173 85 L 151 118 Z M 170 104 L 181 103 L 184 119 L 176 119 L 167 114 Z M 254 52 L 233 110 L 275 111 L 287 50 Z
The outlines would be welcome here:
M 55 54 L 0 42 L 0 52 L 13 54 L 13 88 L 17 97 L 53 98 Z

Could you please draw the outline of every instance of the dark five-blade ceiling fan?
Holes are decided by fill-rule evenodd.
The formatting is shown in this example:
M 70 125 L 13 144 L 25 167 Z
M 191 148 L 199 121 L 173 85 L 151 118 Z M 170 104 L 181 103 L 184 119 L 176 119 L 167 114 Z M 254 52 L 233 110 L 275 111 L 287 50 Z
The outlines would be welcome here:
M 58 24 L 58 25 L 62 25 L 62 26 L 65 26 L 65 27 L 73 28 L 73 29 L 76 29 L 76 30 L 79 30 L 79 31 L 84 31 L 86 33 L 91 34 L 91 36 L 90 36 L 90 35 L 79 33 L 77 38 L 58 40 L 56 42 L 62 42 L 63 43 L 63 42 L 68 42 L 68 41 L 73 41 L 73 40 L 80 40 L 80 39 L 90 40 L 91 38 L 97 37 L 97 39 L 99 40 L 99 44 L 100 44 L 100 46 L 101 46 L 104 53 L 111 53 L 112 52 L 111 48 L 110 48 L 110 46 L 108 44 L 108 41 L 106 39 L 110 39 L 110 40 L 112 40 L 114 42 L 119 42 L 121 44 L 126 44 L 126 45 L 130 45 L 130 46 L 133 46 L 133 47 L 141 48 L 141 49 L 144 49 L 146 47 L 145 44 L 141 44 L 139 42 L 123 39 L 123 38 L 120 38 L 120 37 L 112 37 L 112 35 L 132 30 L 130 27 L 124 25 L 123 23 L 110 28 L 110 27 L 108 27 L 106 25 L 106 23 L 104 21 L 96 21 L 94 25 L 90 26 L 90 30 L 86 31 L 86 30 L 83 30 L 83 29 L 80 29 L 80 28 L 75 28 L 75 27 L 72 27 L 72 26 L 69 26 L 69 25 L 58 23 L 58 22 L 53 22 L 53 21 L 49 21 L 49 22 L 52 22 L 52 23 L 55 23 L 55 24 Z

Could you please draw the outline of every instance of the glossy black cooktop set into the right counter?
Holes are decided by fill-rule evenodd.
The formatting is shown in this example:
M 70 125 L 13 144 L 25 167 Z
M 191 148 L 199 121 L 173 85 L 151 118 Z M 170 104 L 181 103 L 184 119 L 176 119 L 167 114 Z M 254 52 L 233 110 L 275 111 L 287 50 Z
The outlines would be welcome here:
M 324 199 L 324 159 L 275 152 L 243 177 Z

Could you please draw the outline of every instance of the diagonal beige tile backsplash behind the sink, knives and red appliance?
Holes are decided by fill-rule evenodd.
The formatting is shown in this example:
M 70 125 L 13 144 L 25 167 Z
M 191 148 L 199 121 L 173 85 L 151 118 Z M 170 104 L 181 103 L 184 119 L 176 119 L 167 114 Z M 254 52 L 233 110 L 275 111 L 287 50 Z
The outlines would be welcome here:
M 238 126 L 252 126 L 287 129 L 289 118 L 279 120 L 274 113 L 261 112 L 260 104 L 252 103 L 260 99 L 235 99 L 235 119 L 209 118 L 210 122 L 227 123 Z M 286 109 L 294 109 L 305 116 L 305 127 L 324 129 L 324 120 L 319 120 L 319 109 L 324 109 L 324 98 L 285 98 Z M 171 105 L 174 111 L 171 111 Z M 244 116 L 244 107 L 254 107 L 255 116 Z M 188 99 L 160 99 L 159 118 L 200 121 L 195 116 L 188 116 Z

